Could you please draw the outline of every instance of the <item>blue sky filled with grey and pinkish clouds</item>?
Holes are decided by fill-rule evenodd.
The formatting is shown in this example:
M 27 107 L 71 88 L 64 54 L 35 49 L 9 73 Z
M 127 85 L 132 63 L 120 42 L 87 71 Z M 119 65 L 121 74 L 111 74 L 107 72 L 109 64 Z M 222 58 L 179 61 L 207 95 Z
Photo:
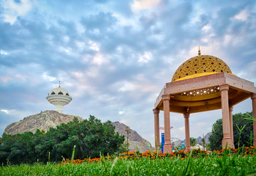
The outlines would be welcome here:
M 123 122 L 154 144 L 158 93 L 198 45 L 256 82 L 256 1 L 1 0 L 0 133 L 54 110 L 45 97 L 61 81 L 73 98 L 66 114 Z M 233 112 L 252 111 L 251 102 Z M 191 114 L 191 136 L 221 117 Z M 184 139 L 183 115 L 171 113 L 171 125 Z

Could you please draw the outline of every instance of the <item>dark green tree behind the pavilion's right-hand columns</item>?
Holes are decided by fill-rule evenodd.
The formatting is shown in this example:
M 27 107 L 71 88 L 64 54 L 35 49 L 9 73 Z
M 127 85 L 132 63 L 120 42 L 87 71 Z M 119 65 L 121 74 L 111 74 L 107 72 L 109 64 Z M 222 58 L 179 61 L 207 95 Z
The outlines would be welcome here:
M 248 113 L 248 112 L 247 112 Z M 245 114 L 234 114 L 233 115 L 233 136 L 235 148 L 238 147 L 238 138 L 239 131 L 236 125 L 239 128 L 245 125 L 244 130 L 241 133 L 240 147 L 250 145 L 250 133 L 253 131 L 253 122 L 252 120 L 244 119 Z M 252 112 L 249 113 L 252 116 Z M 212 134 L 209 137 L 211 150 L 220 150 L 222 149 L 222 139 L 223 139 L 223 128 L 222 128 L 222 119 L 216 120 L 213 124 Z

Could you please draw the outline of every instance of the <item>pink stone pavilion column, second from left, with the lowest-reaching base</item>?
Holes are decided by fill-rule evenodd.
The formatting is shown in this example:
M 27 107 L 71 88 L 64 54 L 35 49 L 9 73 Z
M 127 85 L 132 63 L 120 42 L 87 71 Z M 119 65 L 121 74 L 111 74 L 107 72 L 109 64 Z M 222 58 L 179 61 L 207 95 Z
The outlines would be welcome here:
M 172 153 L 171 131 L 169 122 L 170 95 L 162 95 L 164 101 L 164 153 Z

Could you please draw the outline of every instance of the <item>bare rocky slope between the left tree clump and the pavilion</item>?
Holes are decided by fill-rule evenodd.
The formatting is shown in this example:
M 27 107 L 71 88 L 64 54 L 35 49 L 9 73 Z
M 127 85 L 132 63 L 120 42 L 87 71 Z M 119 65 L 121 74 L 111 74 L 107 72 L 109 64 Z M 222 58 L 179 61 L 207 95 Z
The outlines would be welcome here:
M 125 128 L 127 128 L 127 125 L 120 123 L 120 122 L 112 122 L 112 125 L 114 125 L 115 132 L 120 133 L 120 135 L 125 135 L 125 142 L 127 142 L 127 131 L 125 131 Z M 145 152 L 147 150 L 150 150 L 151 144 L 146 139 L 143 139 L 142 136 L 139 135 L 136 131 L 133 131 L 130 129 L 130 133 L 128 136 L 128 142 L 129 142 L 129 151 L 139 151 L 139 152 Z

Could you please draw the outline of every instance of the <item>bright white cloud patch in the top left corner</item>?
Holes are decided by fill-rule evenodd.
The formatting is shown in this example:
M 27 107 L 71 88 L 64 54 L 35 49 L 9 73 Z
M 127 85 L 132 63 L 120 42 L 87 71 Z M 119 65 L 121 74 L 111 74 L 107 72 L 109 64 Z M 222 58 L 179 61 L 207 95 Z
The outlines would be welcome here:
M 4 21 L 9 23 L 15 23 L 18 16 L 26 15 L 32 9 L 31 0 L 21 0 L 20 3 L 15 3 L 12 0 L 4 0 L 1 2 L 2 7 L 4 8 Z

